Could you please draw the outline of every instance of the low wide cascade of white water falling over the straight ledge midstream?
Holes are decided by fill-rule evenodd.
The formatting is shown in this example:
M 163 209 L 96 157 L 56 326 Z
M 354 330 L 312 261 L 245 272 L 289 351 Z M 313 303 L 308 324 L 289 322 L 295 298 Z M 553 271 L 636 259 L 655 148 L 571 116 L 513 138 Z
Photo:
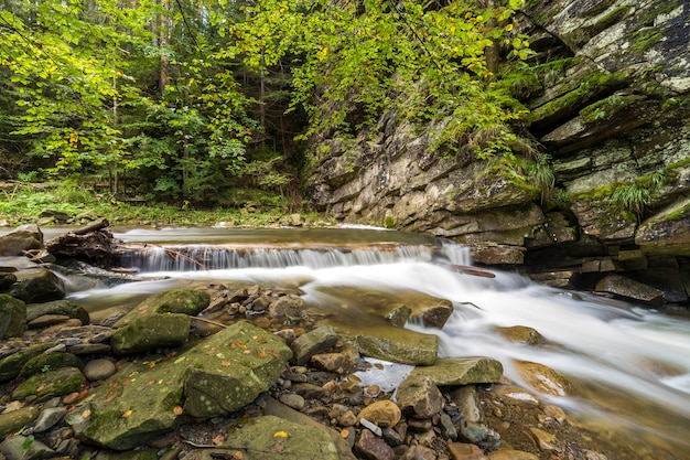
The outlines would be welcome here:
M 468 250 L 456 244 L 284 247 L 246 245 L 144 246 L 121 255 L 120 264 L 140 272 L 200 271 L 242 268 L 308 267 L 313 269 L 411 261 L 470 265 Z

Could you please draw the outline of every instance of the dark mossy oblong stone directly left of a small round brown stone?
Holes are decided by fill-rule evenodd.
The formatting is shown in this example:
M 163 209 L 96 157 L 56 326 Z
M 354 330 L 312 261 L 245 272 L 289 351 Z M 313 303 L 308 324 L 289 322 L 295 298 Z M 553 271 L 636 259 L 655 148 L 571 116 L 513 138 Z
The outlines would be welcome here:
M 62 367 L 32 375 L 12 393 L 14 399 L 44 402 L 54 396 L 64 396 L 82 388 L 84 376 L 76 367 Z

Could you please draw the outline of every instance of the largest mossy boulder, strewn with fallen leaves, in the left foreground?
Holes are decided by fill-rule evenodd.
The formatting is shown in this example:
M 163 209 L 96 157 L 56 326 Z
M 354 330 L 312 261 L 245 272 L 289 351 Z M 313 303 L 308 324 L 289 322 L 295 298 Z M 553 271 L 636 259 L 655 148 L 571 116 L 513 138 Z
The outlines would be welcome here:
M 132 449 L 172 429 L 183 414 L 206 418 L 251 403 L 278 379 L 291 355 L 278 336 L 241 321 L 175 357 L 154 366 L 132 364 L 104 381 L 88 419 L 75 427 L 89 442 Z

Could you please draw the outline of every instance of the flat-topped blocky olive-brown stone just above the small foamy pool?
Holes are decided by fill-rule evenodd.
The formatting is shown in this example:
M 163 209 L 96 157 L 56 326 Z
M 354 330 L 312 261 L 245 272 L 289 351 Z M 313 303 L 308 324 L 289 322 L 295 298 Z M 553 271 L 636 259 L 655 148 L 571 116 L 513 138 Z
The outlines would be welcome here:
M 411 365 L 433 364 L 439 350 L 436 335 L 399 328 L 369 329 L 356 343 L 365 356 Z

